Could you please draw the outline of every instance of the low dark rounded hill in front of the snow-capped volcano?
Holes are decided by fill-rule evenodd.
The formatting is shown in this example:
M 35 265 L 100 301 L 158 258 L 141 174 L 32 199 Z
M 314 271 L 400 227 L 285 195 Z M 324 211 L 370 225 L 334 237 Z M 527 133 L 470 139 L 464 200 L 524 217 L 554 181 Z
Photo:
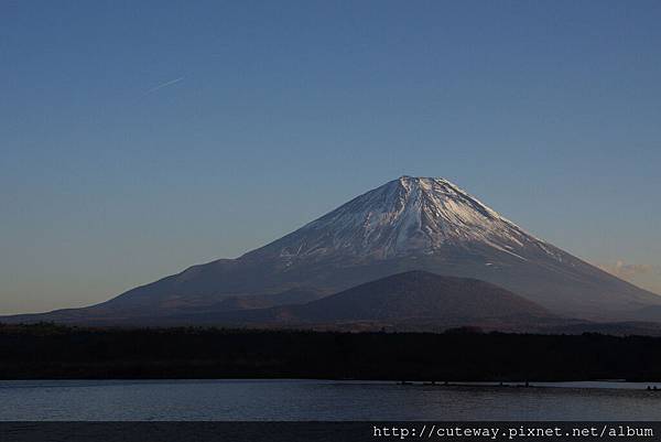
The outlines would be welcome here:
M 205 312 L 163 319 L 170 324 L 443 331 L 452 326 L 538 330 L 573 325 L 488 282 L 408 271 L 299 305 Z

